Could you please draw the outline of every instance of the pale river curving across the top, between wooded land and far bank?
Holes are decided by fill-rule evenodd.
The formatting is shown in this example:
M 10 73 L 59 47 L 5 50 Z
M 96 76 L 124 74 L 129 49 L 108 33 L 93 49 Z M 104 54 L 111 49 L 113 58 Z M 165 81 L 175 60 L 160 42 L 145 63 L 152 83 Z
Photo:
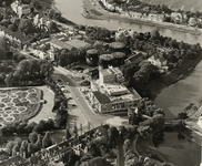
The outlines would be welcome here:
M 118 20 L 92 20 L 82 17 L 81 14 L 82 0 L 55 0 L 55 7 L 61 11 L 62 15 L 78 24 L 100 25 L 108 29 L 132 29 L 137 32 L 149 32 L 154 27 L 123 22 Z M 162 35 L 172 37 L 178 41 L 188 43 L 200 43 L 202 45 L 202 37 L 192 35 L 189 33 L 176 32 L 169 29 L 161 30 Z

